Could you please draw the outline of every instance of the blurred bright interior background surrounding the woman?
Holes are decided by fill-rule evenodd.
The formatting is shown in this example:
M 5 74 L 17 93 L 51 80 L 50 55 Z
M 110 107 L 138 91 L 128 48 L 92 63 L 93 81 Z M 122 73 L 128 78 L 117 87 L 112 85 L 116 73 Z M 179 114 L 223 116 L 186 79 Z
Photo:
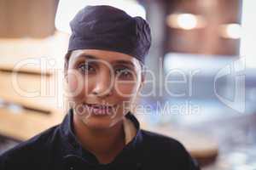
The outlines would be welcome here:
M 68 24 L 96 4 L 151 26 L 143 128 L 179 139 L 202 169 L 255 170 L 253 0 L 0 0 L 0 153 L 61 122 Z

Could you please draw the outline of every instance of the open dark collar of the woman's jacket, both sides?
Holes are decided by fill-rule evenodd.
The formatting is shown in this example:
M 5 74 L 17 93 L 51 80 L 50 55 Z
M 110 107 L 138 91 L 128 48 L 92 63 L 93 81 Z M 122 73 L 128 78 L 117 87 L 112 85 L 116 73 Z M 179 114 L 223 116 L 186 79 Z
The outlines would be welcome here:
M 141 150 L 142 144 L 142 133 L 140 129 L 140 123 L 137 118 L 133 116 L 131 112 L 128 112 L 125 115 L 127 122 L 125 122 L 125 139 L 126 145 L 125 148 L 119 153 L 119 155 L 115 158 L 113 162 L 110 164 L 140 164 L 139 153 Z M 132 134 L 131 124 L 134 125 L 137 132 Z M 129 125 L 130 124 L 130 125 Z M 63 122 L 61 122 L 61 139 L 65 140 L 65 144 L 67 144 L 66 154 L 63 156 L 64 160 L 80 160 L 90 165 L 99 165 L 99 162 L 89 150 L 82 148 L 82 145 L 79 143 L 79 140 L 73 133 L 73 110 L 69 110 L 67 115 L 65 116 Z M 129 134 L 128 134 L 129 133 Z M 128 162 L 129 161 L 129 162 Z

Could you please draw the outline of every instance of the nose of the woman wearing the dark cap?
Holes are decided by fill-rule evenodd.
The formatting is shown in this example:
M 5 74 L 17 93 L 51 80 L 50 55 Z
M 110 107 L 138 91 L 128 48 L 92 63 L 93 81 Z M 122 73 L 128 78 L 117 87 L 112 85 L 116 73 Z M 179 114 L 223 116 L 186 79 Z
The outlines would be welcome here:
M 114 77 L 108 71 L 100 72 L 96 77 L 95 87 L 92 94 L 98 97 L 106 97 L 113 93 Z

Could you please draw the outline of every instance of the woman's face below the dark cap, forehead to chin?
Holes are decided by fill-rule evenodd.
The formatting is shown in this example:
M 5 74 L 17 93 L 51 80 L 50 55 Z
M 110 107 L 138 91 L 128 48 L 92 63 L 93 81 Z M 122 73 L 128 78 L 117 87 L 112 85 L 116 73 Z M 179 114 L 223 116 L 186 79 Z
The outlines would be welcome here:
M 142 66 L 130 55 L 98 49 L 74 50 L 66 68 L 74 116 L 92 128 L 113 127 L 135 105 Z

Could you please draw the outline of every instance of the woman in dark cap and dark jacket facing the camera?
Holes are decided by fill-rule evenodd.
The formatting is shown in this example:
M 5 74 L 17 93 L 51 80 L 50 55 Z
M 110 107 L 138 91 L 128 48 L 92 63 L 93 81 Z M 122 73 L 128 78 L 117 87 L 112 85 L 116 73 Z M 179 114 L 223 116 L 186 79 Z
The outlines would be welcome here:
M 183 144 L 141 129 L 132 115 L 151 44 L 148 23 L 118 8 L 87 6 L 71 28 L 67 116 L 5 152 L 0 169 L 199 169 Z

